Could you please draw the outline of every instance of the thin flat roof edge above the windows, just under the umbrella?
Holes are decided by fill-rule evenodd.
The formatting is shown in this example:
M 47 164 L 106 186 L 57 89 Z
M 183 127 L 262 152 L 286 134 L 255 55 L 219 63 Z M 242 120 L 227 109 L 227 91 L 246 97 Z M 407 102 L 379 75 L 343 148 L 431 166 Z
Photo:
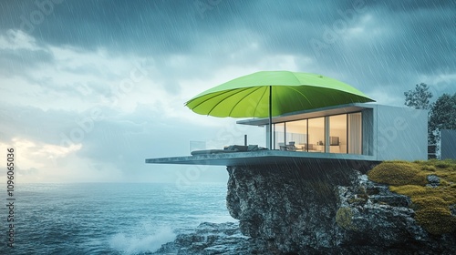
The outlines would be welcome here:
M 296 120 L 296 119 L 347 114 L 347 113 L 352 113 L 352 112 L 358 112 L 358 111 L 361 111 L 366 108 L 372 108 L 373 106 L 375 106 L 375 104 L 354 103 L 354 104 L 347 104 L 347 105 L 340 105 L 340 106 L 333 106 L 333 107 L 322 107 L 322 108 L 287 113 L 285 115 L 273 117 L 272 120 L 273 120 L 273 123 L 280 123 L 280 122 L 292 121 L 292 120 Z M 268 117 L 249 118 L 249 119 L 238 120 L 238 121 L 236 121 L 236 123 L 242 124 L 242 125 L 264 126 L 264 125 L 269 125 L 269 118 Z

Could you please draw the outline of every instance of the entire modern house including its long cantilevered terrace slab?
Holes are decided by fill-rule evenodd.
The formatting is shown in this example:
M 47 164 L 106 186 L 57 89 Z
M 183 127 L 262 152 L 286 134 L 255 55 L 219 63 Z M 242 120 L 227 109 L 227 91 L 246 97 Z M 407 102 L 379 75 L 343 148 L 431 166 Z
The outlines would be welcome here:
M 211 149 L 193 156 L 149 158 L 146 163 L 236 166 L 299 159 L 384 161 L 428 157 L 428 112 L 354 103 L 272 118 L 237 121 L 265 128 L 267 148 Z M 260 131 L 260 130 L 259 130 Z M 269 144 L 273 132 L 273 145 Z

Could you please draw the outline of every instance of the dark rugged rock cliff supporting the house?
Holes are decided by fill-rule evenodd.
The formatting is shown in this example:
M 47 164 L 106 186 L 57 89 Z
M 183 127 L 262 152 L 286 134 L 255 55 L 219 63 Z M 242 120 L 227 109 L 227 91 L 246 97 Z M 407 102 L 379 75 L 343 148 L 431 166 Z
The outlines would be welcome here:
M 413 219 L 408 197 L 358 167 L 228 167 L 227 208 L 241 232 L 273 254 L 456 254 L 456 233 L 430 235 Z

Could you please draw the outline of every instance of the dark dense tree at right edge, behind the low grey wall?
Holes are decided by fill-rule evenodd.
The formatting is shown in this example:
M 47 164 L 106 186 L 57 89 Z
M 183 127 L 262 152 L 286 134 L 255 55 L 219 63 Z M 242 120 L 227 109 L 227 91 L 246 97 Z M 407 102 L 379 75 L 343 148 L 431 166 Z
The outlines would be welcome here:
M 456 129 L 456 93 L 443 94 L 430 108 L 428 140 L 436 144 L 440 140 L 441 129 Z

